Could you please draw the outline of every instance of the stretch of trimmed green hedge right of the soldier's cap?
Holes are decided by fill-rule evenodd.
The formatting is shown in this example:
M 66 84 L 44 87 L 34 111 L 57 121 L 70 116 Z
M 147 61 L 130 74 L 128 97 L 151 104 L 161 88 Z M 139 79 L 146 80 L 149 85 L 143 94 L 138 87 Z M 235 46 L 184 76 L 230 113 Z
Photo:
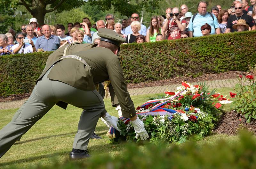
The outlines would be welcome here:
M 126 82 L 247 71 L 256 64 L 256 31 L 122 46 Z

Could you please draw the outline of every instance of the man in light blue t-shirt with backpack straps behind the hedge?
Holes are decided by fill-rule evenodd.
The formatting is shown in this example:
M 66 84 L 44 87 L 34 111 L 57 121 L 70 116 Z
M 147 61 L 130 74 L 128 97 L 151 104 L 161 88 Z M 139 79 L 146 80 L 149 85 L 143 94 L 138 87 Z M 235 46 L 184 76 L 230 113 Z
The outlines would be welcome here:
M 189 25 L 188 25 L 188 33 L 189 37 L 198 37 L 203 36 L 201 33 L 201 26 L 203 26 L 205 23 L 209 24 L 212 28 L 211 34 L 220 34 L 220 26 L 218 23 L 217 18 L 212 15 L 211 13 L 208 13 L 206 11 L 207 4 L 205 1 L 200 1 L 197 10 L 199 13 L 195 14 L 194 20 L 192 21 L 192 18 L 190 19 Z

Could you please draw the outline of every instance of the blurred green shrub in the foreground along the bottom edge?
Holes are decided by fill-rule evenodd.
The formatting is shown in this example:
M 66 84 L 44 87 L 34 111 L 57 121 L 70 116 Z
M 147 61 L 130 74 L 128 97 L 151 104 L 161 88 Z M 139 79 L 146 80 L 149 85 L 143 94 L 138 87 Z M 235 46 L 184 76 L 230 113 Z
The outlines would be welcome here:
M 197 145 L 187 142 L 183 145 L 145 145 L 139 148 L 127 144 L 124 151 L 114 157 L 109 154 L 93 155 L 83 161 L 69 162 L 50 166 L 33 166 L 38 169 L 168 169 L 168 168 L 225 168 L 254 169 L 256 165 L 255 138 L 243 134 L 236 142 L 218 141 L 215 145 Z M 113 150 L 114 151 L 114 150 Z

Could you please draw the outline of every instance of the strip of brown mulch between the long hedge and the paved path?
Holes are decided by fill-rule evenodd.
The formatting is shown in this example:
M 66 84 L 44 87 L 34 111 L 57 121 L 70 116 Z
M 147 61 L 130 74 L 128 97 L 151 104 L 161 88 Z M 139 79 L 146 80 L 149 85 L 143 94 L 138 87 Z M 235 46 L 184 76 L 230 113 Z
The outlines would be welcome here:
M 207 80 L 232 79 L 232 78 L 236 78 L 239 74 L 247 75 L 248 72 L 229 71 L 229 72 L 223 72 L 223 73 L 219 73 L 219 74 L 205 74 L 205 75 L 202 75 L 199 77 L 192 77 L 192 76 L 175 77 L 172 79 L 148 81 L 148 82 L 141 82 L 141 83 L 137 83 L 137 84 L 130 83 L 130 84 L 127 84 L 127 88 L 134 89 L 134 88 L 141 88 L 141 87 L 173 85 L 173 84 L 180 84 L 182 81 L 187 81 L 187 82 L 191 83 L 191 82 L 201 82 L 201 81 L 207 81 Z M 29 96 L 30 96 L 30 93 L 13 94 L 8 97 L 0 97 L 0 102 L 27 99 Z

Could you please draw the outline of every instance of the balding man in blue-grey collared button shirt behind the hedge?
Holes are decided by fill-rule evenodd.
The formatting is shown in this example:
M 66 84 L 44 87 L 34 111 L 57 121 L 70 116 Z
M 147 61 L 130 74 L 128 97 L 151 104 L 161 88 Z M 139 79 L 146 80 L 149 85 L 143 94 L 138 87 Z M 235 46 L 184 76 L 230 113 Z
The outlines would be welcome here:
M 60 47 L 60 39 L 58 36 L 51 35 L 51 28 L 49 25 L 42 27 L 44 36 L 40 36 L 36 40 L 36 50 L 42 48 L 44 51 L 54 51 Z

